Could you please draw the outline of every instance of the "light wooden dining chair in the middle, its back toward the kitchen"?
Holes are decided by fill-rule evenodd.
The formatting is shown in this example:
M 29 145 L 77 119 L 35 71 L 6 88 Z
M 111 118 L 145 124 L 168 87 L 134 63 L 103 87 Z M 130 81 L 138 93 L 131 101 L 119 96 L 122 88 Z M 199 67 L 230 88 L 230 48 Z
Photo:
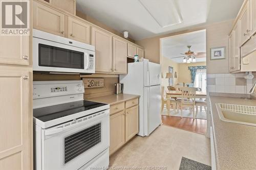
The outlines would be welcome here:
M 178 105 L 181 111 L 184 107 L 188 107 L 189 111 L 193 112 L 193 118 L 195 118 L 195 104 L 196 104 L 196 91 L 195 87 L 180 87 L 182 98 L 178 101 Z

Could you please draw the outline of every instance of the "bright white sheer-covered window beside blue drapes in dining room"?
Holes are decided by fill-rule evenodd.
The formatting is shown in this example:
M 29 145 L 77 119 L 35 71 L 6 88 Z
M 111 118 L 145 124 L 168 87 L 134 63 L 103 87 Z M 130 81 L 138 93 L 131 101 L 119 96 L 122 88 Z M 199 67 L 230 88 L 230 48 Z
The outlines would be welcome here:
M 206 69 L 197 69 L 194 85 L 201 88 L 202 93 L 206 93 Z

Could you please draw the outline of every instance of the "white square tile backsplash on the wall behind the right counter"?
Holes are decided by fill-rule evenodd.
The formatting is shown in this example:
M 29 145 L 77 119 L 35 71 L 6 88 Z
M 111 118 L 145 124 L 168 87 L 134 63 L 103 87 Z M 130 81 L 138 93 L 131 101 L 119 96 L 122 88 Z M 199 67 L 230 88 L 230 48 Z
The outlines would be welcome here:
M 221 93 L 249 93 L 250 88 L 256 81 L 246 80 L 246 74 L 207 74 L 207 92 Z

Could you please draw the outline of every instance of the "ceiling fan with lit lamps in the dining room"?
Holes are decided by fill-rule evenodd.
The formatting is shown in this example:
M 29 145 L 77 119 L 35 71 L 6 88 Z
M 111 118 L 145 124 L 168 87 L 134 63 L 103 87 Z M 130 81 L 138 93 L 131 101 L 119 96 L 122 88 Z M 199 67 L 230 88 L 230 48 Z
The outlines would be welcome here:
M 183 58 L 183 63 L 195 63 L 197 60 L 196 58 L 204 58 L 205 57 L 205 52 L 200 52 L 200 53 L 194 53 L 193 51 L 190 51 L 191 45 L 187 45 L 188 51 L 185 52 L 184 54 L 181 53 L 181 55 L 184 56 L 179 56 L 179 57 L 173 57 L 173 58 Z M 172 58 L 171 58 L 172 59 Z

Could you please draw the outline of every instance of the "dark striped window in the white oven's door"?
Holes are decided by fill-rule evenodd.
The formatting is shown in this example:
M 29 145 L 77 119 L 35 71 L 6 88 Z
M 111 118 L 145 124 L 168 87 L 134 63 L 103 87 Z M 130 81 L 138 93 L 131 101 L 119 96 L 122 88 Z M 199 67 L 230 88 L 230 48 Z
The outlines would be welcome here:
M 65 163 L 86 152 L 101 141 L 101 123 L 65 138 Z

